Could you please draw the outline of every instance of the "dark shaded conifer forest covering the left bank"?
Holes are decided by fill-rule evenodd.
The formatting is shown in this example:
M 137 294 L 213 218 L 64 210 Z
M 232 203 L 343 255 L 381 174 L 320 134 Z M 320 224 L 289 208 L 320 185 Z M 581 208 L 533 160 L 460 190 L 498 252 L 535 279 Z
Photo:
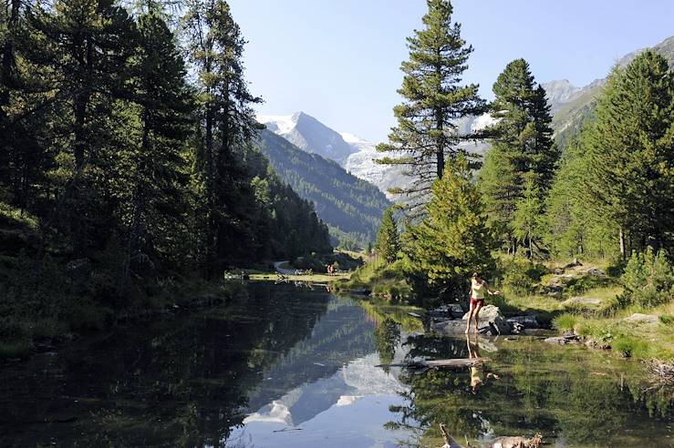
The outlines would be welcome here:
M 331 250 L 313 205 L 254 149 L 262 99 L 226 2 L 181 16 L 111 1 L 8 8 L 2 316 L 69 321 L 137 305 L 166 279 Z

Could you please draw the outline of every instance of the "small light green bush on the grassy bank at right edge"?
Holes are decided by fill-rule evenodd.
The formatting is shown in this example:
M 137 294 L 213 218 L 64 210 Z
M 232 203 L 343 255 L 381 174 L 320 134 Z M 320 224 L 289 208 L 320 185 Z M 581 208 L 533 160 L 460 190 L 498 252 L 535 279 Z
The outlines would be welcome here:
M 674 266 L 664 249 L 655 253 L 648 247 L 645 252 L 633 254 L 620 280 L 625 286 L 618 299 L 622 307 L 634 304 L 649 308 L 674 297 Z

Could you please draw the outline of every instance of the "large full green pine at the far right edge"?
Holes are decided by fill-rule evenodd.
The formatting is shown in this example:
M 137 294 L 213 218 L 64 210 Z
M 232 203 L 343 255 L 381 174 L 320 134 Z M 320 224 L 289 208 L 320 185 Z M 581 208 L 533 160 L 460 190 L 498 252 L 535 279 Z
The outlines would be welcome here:
M 583 141 L 588 207 L 617 223 L 620 249 L 674 244 L 674 72 L 652 51 L 615 69 Z

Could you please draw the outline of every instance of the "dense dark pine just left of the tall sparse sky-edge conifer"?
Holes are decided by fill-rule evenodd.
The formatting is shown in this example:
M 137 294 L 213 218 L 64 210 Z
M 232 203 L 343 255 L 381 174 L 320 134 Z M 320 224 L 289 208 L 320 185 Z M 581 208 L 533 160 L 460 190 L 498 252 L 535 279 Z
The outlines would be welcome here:
M 119 197 L 129 239 L 124 275 L 143 260 L 178 266 L 189 260 L 188 167 L 182 157 L 192 134 L 192 95 L 185 66 L 161 11 L 138 19 L 137 54 L 130 61 L 129 132 L 119 151 Z M 128 129 L 126 129 L 128 130 Z

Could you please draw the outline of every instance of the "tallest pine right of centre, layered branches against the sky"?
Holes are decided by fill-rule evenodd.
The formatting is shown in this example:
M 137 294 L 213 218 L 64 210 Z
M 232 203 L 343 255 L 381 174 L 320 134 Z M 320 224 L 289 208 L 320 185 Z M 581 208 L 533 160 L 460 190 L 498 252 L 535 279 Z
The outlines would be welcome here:
M 425 27 L 408 38 L 410 59 L 401 66 L 405 76 L 398 92 L 405 102 L 393 109 L 398 126 L 389 134 L 389 143 L 378 146 L 392 154 L 379 163 L 406 167 L 415 178 L 411 188 L 392 190 L 407 193 L 412 204 L 428 196 L 448 158 L 465 153 L 457 144 L 476 137 L 459 135 L 455 121 L 484 110 L 478 86 L 461 85 L 472 46 L 461 39 L 461 25 L 451 22 L 451 3 L 427 0 L 427 4 Z

